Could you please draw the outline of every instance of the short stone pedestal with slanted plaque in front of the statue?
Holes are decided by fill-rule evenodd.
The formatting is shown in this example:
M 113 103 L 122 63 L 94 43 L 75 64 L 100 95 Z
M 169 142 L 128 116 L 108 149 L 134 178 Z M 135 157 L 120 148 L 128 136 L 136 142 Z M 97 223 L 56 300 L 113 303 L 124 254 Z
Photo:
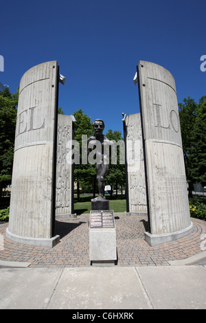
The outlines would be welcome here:
M 117 260 L 116 229 L 111 210 L 90 212 L 89 259 L 91 265 L 111 266 Z

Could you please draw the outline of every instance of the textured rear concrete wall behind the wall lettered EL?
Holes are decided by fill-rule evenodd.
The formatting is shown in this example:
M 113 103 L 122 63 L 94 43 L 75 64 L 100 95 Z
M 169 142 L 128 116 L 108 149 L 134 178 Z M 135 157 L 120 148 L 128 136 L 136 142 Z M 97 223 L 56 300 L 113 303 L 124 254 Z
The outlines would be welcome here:
M 58 115 L 56 155 L 56 217 L 73 213 L 73 166 L 71 153 L 73 120 L 70 115 Z

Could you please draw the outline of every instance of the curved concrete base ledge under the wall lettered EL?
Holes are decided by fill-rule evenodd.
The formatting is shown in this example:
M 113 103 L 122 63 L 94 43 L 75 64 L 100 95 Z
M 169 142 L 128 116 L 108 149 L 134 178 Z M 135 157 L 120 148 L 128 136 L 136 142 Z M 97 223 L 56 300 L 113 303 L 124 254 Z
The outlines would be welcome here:
M 53 236 L 52 238 L 32 238 L 30 236 L 19 236 L 13 234 L 8 230 L 5 231 L 5 234 L 10 240 L 16 241 L 17 243 L 23 243 L 25 245 L 34 245 L 36 247 L 48 247 L 53 248 L 60 241 L 60 236 Z

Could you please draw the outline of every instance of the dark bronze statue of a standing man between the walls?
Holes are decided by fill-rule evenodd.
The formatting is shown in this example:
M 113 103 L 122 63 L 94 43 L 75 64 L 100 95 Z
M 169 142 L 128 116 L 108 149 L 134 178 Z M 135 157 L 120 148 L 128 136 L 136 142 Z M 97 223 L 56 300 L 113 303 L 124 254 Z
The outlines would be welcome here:
M 94 135 L 91 136 L 87 141 L 88 151 L 91 153 L 95 146 L 95 157 L 96 157 L 96 172 L 98 180 L 98 190 L 99 196 L 93 199 L 92 201 L 102 201 L 105 198 L 104 196 L 104 179 L 108 173 L 108 164 L 109 164 L 109 154 L 111 151 L 111 146 L 113 142 L 108 140 L 108 138 L 103 135 L 104 131 L 104 121 L 96 119 L 93 122 L 93 129 L 95 131 Z

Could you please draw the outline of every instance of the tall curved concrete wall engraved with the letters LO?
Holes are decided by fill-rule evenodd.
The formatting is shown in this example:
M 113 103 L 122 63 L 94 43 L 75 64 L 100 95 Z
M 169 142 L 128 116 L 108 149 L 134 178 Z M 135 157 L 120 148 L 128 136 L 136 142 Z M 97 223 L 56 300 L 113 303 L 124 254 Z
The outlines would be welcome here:
M 192 222 L 174 78 L 145 61 L 137 71 L 150 222 L 146 241 L 157 245 L 189 234 Z

